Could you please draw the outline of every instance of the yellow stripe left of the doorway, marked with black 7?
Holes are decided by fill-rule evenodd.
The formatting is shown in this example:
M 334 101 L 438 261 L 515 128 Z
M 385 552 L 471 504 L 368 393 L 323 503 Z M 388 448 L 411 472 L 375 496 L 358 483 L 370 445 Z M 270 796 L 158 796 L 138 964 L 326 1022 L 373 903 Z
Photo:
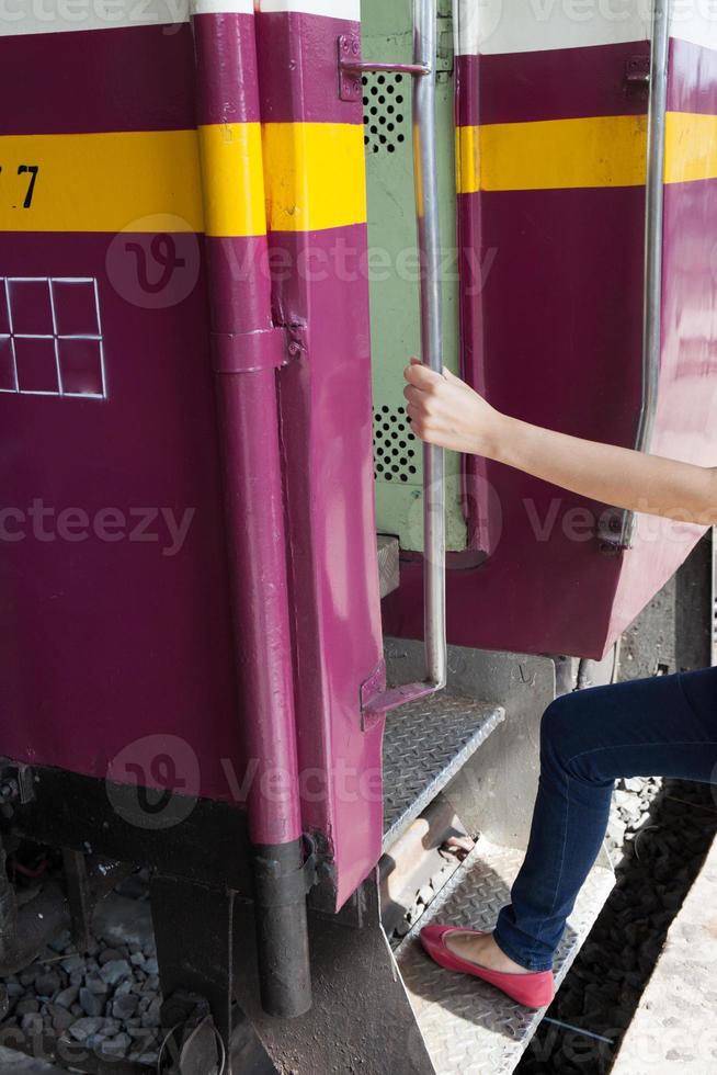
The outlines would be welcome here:
M 38 168 L 29 208 L 23 165 Z M 171 230 L 242 236 L 268 218 L 289 231 L 366 219 L 355 124 L 4 135 L 0 166 L 0 231 L 156 231 L 166 217 Z

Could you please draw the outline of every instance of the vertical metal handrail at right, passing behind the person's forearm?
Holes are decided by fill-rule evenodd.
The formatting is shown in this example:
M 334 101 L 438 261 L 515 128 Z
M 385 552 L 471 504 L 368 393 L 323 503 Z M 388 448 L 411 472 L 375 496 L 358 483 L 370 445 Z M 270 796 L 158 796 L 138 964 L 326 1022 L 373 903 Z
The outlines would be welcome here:
M 662 355 L 662 231 L 664 220 L 664 146 L 670 52 L 670 0 L 653 0 L 650 46 L 650 99 L 645 184 L 645 292 L 642 298 L 642 400 L 635 438 L 638 452 L 652 445 Z M 636 516 L 623 516 L 621 546 L 635 541 Z

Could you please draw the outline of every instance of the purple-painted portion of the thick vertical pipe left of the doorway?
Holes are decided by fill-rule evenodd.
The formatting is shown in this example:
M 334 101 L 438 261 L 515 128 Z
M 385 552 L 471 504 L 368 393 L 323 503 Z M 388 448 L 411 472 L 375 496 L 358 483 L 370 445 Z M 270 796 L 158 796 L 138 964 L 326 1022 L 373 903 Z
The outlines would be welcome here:
M 194 22 L 197 115 L 229 124 L 259 118 L 253 18 L 202 15 Z M 205 203 L 215 197 L 214 177 Z M 236 196 L 247 196 L 237 191 Z M 254 238 L 254 271 L 230 272 L 247 241 L 213 238 L 209 328 L 219 414 L 224 522 L 229 552 L 237 725 L 254 779 L 247 791 L 249 838 L 292 844 L 303 833 L 291 637 L 287 534 L 276 371 L 286 340 L 271 320 L 269 276 L 259 271 L 266 236 Z M 238 261 L 241 264 L 241 260 Z M 276 779 L 278 778 L 278 780 Z

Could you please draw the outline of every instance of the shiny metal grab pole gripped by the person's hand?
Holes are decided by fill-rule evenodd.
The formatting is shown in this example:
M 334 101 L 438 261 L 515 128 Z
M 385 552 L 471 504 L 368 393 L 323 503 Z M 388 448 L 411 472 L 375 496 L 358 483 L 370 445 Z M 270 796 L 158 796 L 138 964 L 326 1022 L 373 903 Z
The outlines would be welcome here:
M 435 0 L 413 0 L 413 63 L 426 70 L 413 79 L 413 157 L 416 216 L 421 275 L 421 349 L 423 362 L 443 374 L 441 229 L 435 134 Z M 445 626 L 445 459 L 434 444 L 423 445 L 423 598 L 425 602 L 425 678 L 436 689 L 446 683 Z

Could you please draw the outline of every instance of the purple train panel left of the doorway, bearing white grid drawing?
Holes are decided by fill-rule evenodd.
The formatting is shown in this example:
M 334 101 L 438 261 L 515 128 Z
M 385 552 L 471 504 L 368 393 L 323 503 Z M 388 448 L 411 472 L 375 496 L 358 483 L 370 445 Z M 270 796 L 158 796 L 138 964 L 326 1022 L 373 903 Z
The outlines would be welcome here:
M 0 755 L 253 796 L 254 842 L 339 849 L 339 903 L 382 834 L 367 295 L 331 258 L 366 244 L 357 20 L 157 0 L 0 37 Z

